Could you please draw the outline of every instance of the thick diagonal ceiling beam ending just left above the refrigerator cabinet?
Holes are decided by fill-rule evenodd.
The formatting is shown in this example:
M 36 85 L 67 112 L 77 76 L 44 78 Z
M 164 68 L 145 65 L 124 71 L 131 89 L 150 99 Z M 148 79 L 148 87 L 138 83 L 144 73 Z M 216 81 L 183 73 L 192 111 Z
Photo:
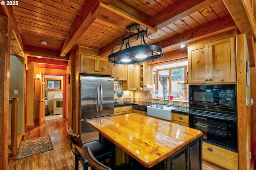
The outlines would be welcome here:
M 60 50 L 60 57 L 66 56 L 68 51 L 76 44 L 78 39 L 84 34 L 84 32 L 90 27 L 92 22 L 96 19 L 92 16 L 92 10 L 94 7 L 102 1 L 105 4 L 108 4 L 111 0 L 88 0 L 86 7 L 81 12 L 78 20 L 74 24 L 74 29 L 71 30 L 69 36 L 66 38 L 62 49 Z

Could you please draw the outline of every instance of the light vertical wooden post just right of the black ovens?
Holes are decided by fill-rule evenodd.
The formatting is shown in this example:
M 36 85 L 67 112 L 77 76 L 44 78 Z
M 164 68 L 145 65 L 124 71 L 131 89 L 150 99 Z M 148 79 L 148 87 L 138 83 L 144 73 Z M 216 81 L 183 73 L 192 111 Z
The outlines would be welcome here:
M 248 170 L 248 115 L 246 108 L 246 37 L 245 34 L 236 36 L 237 51 L 237 116 L 238 116 L 238 169 Z

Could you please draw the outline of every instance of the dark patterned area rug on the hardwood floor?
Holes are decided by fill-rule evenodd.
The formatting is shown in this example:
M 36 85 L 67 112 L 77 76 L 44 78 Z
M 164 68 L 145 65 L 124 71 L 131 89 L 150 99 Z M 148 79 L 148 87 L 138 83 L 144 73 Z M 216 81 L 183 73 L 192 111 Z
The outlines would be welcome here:
M 53 150 L 50 136 L 21 141 L 17 159 Z

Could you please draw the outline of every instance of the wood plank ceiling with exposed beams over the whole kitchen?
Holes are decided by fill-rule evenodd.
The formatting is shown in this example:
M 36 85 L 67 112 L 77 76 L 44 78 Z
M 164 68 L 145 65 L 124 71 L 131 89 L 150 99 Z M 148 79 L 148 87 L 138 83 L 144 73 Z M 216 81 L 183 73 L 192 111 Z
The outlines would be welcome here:
M 234 4 L 244 6 L 234 10 Z M 149 37 L 159 39 L 168 56 L 181 43 L 236 27 L 255 37 L 250 5 L 250 0 L 19 0 L 12 8 L 2 6 L 0 14 L 11 16 L 12 51 L 21 57 L 67 59 L 76 45 L 107 57 L 133 23 L 148 27 Z

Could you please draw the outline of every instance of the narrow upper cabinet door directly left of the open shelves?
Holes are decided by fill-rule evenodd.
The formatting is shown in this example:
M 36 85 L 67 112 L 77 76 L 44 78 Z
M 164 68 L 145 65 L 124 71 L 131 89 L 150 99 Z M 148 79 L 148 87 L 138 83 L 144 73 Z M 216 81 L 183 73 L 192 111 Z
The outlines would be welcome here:
M 129 64 L 127 70 L 127 90 L 138 90 L 138 64 Z

